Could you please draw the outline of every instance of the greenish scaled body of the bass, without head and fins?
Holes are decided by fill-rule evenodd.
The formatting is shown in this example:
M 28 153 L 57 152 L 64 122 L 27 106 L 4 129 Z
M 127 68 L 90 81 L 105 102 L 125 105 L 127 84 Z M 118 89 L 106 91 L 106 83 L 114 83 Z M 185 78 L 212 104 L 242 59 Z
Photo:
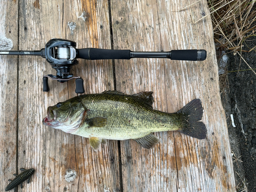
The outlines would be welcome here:
M 106 117 L 104 127 L 81 126 L 76 135 L 104 139 L 137 139 L 152 132 L 179 130 L 180 114 L 164 113 L 151 109 L 139 99 L 129 95 L 82 95 L 81 102 L 87 106 L 88 118 Z M 173 122 L 173 123 L 170 123 Z

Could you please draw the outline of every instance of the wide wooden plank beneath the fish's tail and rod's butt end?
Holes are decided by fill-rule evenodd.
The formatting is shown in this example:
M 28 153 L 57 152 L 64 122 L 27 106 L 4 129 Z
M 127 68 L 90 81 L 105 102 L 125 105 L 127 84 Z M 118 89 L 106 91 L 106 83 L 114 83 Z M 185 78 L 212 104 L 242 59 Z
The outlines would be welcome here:
M 193 6 L 182 8 L 195 3 Z M 202 62 L 163 59 L 116 61 L 117 90 L 154 91 L 154 108 L 176 112 L 194 98 L 204 106 L 208 134 L 198 140 L 180 133 L 157 133 L 160 144 L 147 151 L 121 141 L 124 191 L 235 191 L 218 66 L 207 2 L 112 1 L 115 49 L 169 51 L 205 49 Z

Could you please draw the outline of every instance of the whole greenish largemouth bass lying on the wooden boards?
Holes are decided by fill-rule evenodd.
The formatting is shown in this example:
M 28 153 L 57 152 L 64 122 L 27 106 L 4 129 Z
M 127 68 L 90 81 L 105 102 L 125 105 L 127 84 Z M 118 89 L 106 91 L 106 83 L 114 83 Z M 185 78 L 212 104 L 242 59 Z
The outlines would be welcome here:
M 84 94 L 47 108 L 44 125 L 63 132 L 89 138 L 97 151 L 106 140 L 133 139 L 151 149 L 160 140 L 153 134 L 178 131 L 188 136 L 205 139 L 207 130 L 200 121 L 203 107 L 200 99 L 187 103 L 176 113 L 153 109 L 153 92 L 133 95 L 120 91 Z

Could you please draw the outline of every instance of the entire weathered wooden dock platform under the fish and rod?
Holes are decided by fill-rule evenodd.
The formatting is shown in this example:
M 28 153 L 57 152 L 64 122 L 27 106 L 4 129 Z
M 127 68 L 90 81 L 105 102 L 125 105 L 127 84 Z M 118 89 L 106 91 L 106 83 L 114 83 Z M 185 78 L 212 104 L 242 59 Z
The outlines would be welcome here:
M 83 78 L 86 94 L 153 91 L 153 107 L 164 112 L 200 98 L 208 132 L 204 140 L 156 133 L 160 143 L 153 150 L 133 140 L 108 140 L 94 152 L 89 139 L 42 124 L 48 106 L 76 96 L 75 81 L 49 80 L 51 90 L 42 92 L 42 75 L 56 74 L 45 59 L 0 56 L 0 191 L 19 168 L 32 167 L 31 182 L 18 191 L 236 191 L 206 0 L 0 0 L 0 5 L 1 48 L 5 38 L 12 50 L 40 50 L 52 38 L 65 38 L 77 48 L 205 49 L 205 61 L 80 59 L 72 73 Z

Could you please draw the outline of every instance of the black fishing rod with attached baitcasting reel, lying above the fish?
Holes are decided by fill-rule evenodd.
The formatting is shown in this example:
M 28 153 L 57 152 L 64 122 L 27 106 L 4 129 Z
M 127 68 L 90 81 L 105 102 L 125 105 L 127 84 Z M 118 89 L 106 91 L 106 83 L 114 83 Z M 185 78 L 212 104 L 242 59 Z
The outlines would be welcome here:
M 45 58 L 56 75 L 43 76 L 43 91 L 50 91 L 48 78 L 59 82 L 76 79 L 76 93 L 84 93 L 83 79 L 70 73 L 72 66 L 78 64 L 78 58 L 88 60 L 99 59 L 131 59 L 131 58 L 168 58 L 171 60 L 202 61 L 206 59 L 205 50 L 172 50 L 169 52 L 134 52 L 131 50 L 112 50 L 84 48 L 76 49 L 76 42 L 54 38 L 47 42 L 40 51 L 0 51 L 0 55 L 36 55 Z

